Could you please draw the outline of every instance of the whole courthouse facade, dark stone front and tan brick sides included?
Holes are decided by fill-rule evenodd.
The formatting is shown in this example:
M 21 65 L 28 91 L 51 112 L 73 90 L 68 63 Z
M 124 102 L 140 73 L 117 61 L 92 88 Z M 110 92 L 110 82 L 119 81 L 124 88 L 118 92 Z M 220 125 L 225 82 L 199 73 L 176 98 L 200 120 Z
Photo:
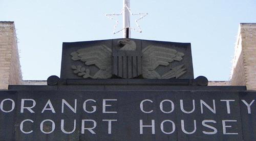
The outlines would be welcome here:
M 64 42 L 60 78 L 30 81 L 0 21 L 0 140 L 255 140 L 256 23 L 228 81 L 194 79 L 190 43 L 124 37 Z

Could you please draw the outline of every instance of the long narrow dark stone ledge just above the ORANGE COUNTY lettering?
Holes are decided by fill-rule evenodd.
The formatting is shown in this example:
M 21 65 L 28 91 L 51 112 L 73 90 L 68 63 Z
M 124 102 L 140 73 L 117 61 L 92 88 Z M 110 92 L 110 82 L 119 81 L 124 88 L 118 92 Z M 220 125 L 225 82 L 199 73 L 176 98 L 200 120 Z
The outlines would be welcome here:
M 103 82 L 104 83 L 104 82 Z M 122 82 L 120 82 L 122 83 Z M 105 84 L 105 83 L 104 83 Z M 111 82 L 110 82 L 111 84 Z M 25 86 L 10 85 L 9 90 L 129 90 L 129 91 L 166 91 L 166 90 L 210 90 L 236 91 L 246 90 L 246 86 L 168 86 L 168 85 L 59 85 Z

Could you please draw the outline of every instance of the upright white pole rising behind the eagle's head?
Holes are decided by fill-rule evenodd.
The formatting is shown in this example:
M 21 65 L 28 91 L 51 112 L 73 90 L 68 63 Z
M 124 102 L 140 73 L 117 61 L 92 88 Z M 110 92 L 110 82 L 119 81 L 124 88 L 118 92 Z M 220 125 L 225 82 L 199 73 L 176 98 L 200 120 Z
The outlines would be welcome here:
M 130 29 L 130 0 L 123 0 L 123 38 L 131 38 Z

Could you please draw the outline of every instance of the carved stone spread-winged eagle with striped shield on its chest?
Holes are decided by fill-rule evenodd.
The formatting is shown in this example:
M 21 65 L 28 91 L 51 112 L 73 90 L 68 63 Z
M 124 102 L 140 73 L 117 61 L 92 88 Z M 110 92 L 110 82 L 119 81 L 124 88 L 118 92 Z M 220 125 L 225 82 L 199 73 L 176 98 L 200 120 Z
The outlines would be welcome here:
M 174 61 L 181 61 L 183 53 L 162 46 L 148 45 L 137 50 L 136 43 L 130 39 L 118 41 L 119 49 L 112 51 L 106 45 L 95 45 L 71 53 L 72 60 L 84 62 L 85 66 L 72 65 L 73 73 L 83 78 L 106 79 L 120 78 L 170 79 L 179 78 L 186 73 L 184 64 L 170 67 L 164 74 L 157 72 L 157 67 L 171 66 Z M 95 65 L 96 73 L 91 73 L 86 66 Z M 94 75 L 91 75 L 94 74 Z

